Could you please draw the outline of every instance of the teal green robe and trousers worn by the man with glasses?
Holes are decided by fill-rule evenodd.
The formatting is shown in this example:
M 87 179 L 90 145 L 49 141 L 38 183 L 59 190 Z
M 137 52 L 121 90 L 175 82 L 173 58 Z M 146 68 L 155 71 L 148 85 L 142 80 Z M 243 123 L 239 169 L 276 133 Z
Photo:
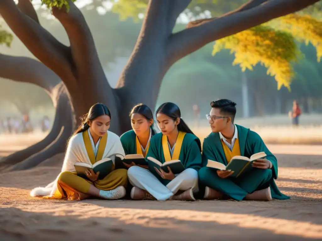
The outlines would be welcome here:
M 242 156 L 250 157 L 252 154 L 264 151 L 266 159 L 273 164 L 272 169 L 254 168 L 251 173 L 241 176 L 240 178 L 220 178 L 215 170 L 206 167 L 207 160 L 213 160 L 227 165 L 225 153 L 223 151 L 222 142 L 219 133 L 211 133 L 204 139 L 203 143 L 203 168 L 199 171 L 199 180 L 202 184 L 213 189 L 220 189 L 226 195 L 242 200 L 247 193 L 260 190 L 270 186 L 273 199 L 289 199 L 288 196 L 282 194 L 274 179 L 277 179 L 278 165 L 276 157 L 264 144 L 262 138 L 248 128 L 236 125 L 238 131 L 239 147 Z

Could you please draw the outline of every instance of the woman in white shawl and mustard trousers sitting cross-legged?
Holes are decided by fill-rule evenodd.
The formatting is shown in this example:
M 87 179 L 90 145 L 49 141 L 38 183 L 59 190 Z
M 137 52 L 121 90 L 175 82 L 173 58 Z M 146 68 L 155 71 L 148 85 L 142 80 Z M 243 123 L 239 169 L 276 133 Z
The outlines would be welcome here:
M 74 165 L 76 162 L 95 165 L 114 153 L 124 154 L 119 137 L 108 131 L 110 120 L 109 109 L 104 104 L 93 105 L 84 122 L 68 142 L 61 173 L 47 187 L 35 188 L 30 194 L 70 200 L 81 200 L 88 196 L 104 199 L 124 197 L 126 192 L 124 186 L 128 182 L 126 169 L 111 170 L 103 179 L 99 178 L 100 173 L 95 173 L 92 169 L 86 170 L 85 175 L 90 179 L 89 181 L 76 174 Z M 96 167 L 107 164 L 101 163 Z

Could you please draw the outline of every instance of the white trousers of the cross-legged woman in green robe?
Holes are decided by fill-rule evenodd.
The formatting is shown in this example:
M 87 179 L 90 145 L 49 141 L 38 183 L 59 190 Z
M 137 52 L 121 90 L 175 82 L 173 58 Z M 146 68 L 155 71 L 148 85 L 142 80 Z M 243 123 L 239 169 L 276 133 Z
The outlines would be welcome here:
M 185 169 L 165 186 L 149 170 L 131 166 L 128 169 L 128 180 L 134 187 L 146 190 L 157 200 L 162 201 L 171 198 L 179 190 L 192 188 L 193 192 L 199 191 L 198 172 L 192 168 Z

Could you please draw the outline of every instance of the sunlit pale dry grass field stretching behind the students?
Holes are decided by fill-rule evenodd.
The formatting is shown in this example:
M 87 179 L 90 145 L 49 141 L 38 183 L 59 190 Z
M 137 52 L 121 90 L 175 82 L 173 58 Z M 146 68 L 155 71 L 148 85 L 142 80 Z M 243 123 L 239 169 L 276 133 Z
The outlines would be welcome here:
M 201 121 L 201 127 L 187 121 L 201 141 L 209 135 L 211 129 L 207 121 Z M 287 116 L 266 116 L 248 119 L 236 119 L 235 123 L 256 131 L 266 144 L 322 145 L 322 115 L 303 115 L 298 128 L 290 125 Z M 10 150 L 20 150 L 42 140 L 47 133 L 0 135 L 0 146 L 5 144 Z M 17 143 L 19 139 L 19 144 Z M 9 149 L 6 151 L 10 151 Z

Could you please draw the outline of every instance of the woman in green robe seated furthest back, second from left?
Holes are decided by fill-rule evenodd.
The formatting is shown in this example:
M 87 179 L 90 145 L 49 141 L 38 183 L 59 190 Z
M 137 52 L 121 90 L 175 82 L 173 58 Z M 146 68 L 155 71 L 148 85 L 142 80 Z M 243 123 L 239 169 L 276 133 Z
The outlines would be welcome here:
M 125 132 L 120 137 L 124 152 L 126 155 L 137 154 L 144 158 L 149 150 L 151 137 L 155 135 L 155 130 L 152 128 L 152 111 L 147 105 L 140 103 L 132 108 L 130 118 L 132 130 Z M 123 168 L 124 166 L 128 168 L 132 165 L 139 165 L 147 168 L 147 162 L 139 160 L 135 160 L 133 163 L 129 163 L 127 160 L 125 161 L 125 164 L 117 163 L 116 168 L 118 168 L 118 165 L 123 166 Z

